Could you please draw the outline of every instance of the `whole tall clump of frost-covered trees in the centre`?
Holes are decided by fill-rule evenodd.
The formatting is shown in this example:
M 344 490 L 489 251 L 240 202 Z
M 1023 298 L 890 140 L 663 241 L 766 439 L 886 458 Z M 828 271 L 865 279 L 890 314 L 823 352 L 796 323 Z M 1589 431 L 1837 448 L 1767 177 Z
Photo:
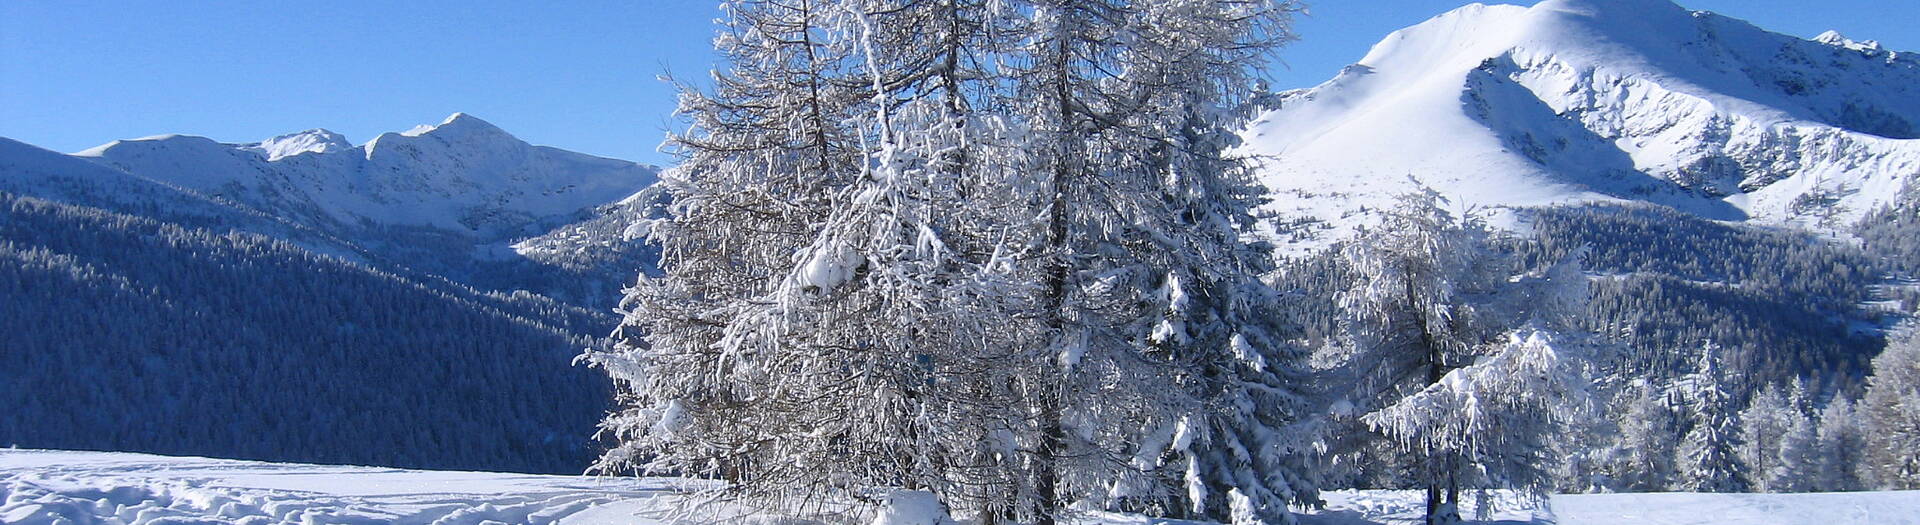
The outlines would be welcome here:
M 728 2 L 732 69 L 607 367 L 601 469 L 783 512 L 929 490 L 1233 521 L 1315 498 L 1236 158 L 1284 2 Z

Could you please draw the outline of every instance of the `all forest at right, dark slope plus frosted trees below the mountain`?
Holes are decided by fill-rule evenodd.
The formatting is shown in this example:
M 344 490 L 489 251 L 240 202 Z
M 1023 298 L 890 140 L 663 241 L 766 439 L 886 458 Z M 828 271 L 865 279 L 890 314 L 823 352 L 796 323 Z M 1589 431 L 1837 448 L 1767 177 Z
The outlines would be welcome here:
M 1912 383 L 1899 362 L 1914 350 L 1882 346 L 1891 325 L 1912 315 L 1910 302 L 1887 302 L 1908 275 L 1901 250 L 1920 238 L 1912 215 L 1868 215 L 1862 242 L 1651 206 L 1538 208 L 1524 217 L 1528 235 L 1488 240 L 1507 254 L 1494 262 L 1524 275 L 1578 256 L 1590 281 L 1578 325 L 1599 340 L 1584 354 L 1597 417 L 1569 425 L 1551 446 L 1553 490 L 1910 487 L 1903 462 L 1912 454 L 1899 450 L 1914 433 L 1899 406 L 1920 392 L 1899 387 Z M 1380 277 L 1356 267 L 1354 254 L 1377 242 L 1361 235 L 1273 273 L 1308 344 L 1334 354 L 1359 344 L 1350 290 Z M 1870 365 L 1876 354 L 1882 362 Z M 1880 394 L 1866 402 L 1862 392 Z M 1866 404 L 1878 406 L 1874 415 Z M 1331 475 L 1354 487 L 1421 487 L 1402 462 L 1390 446 L 1348 448 L 1336 462 L 1348 467 Z

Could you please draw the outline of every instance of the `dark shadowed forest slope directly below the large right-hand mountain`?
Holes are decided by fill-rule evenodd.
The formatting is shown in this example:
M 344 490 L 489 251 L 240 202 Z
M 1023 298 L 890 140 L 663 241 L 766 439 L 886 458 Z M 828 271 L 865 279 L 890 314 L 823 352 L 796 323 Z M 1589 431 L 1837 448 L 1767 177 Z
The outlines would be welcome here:
M 1526 262 L 1590 250 L 1590 329 L 1620 340 L 1622 377 L 1690 373 L 1713 340 L 1741 371 L 1738 400 L 1793 377 L 1859 377 L 1880 352 L 1889 312 L 1868 310 L 1887 267 L 1862 248 L 1809 233 L 1726 225 L 1655 206 L 1528 212 Z

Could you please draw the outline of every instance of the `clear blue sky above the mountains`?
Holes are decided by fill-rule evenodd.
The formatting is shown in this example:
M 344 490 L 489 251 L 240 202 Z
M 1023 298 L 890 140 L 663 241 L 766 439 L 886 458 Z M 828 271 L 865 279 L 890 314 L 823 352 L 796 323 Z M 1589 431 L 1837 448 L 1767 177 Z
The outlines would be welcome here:
M 1532 4 L 1532 0 L 1517 0 Z M 1309 87 L 1463 0 L 1321 0 L 1275 87 Z M 1680 0 L 1799 37 L 1920 50 L 1920 0 Z M 75 152 L 159 133 L 365 142 L 453 112 L 534 144 L 662 163 L 674 92 L 703 79 L 718 10 L 655 2 L 0 0 L 0 137 Z

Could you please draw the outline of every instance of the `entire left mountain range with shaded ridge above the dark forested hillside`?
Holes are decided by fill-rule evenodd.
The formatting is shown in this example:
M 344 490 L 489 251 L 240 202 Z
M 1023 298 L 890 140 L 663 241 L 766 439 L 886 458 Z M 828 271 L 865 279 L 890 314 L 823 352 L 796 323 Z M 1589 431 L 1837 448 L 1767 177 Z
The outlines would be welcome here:
M 4 140 L 4 138 L 0 138 Z M 659 167 L 534 146 L 467 113 L 355 146 L 309 129 L 225 144 L 159 135 L 79 154 L 0 142 L 0 190 L 217 223 L 372 267 L 607 310 L 653 263 L 620 235 Z M 209 219 L 221 217 L 221 219 Z

